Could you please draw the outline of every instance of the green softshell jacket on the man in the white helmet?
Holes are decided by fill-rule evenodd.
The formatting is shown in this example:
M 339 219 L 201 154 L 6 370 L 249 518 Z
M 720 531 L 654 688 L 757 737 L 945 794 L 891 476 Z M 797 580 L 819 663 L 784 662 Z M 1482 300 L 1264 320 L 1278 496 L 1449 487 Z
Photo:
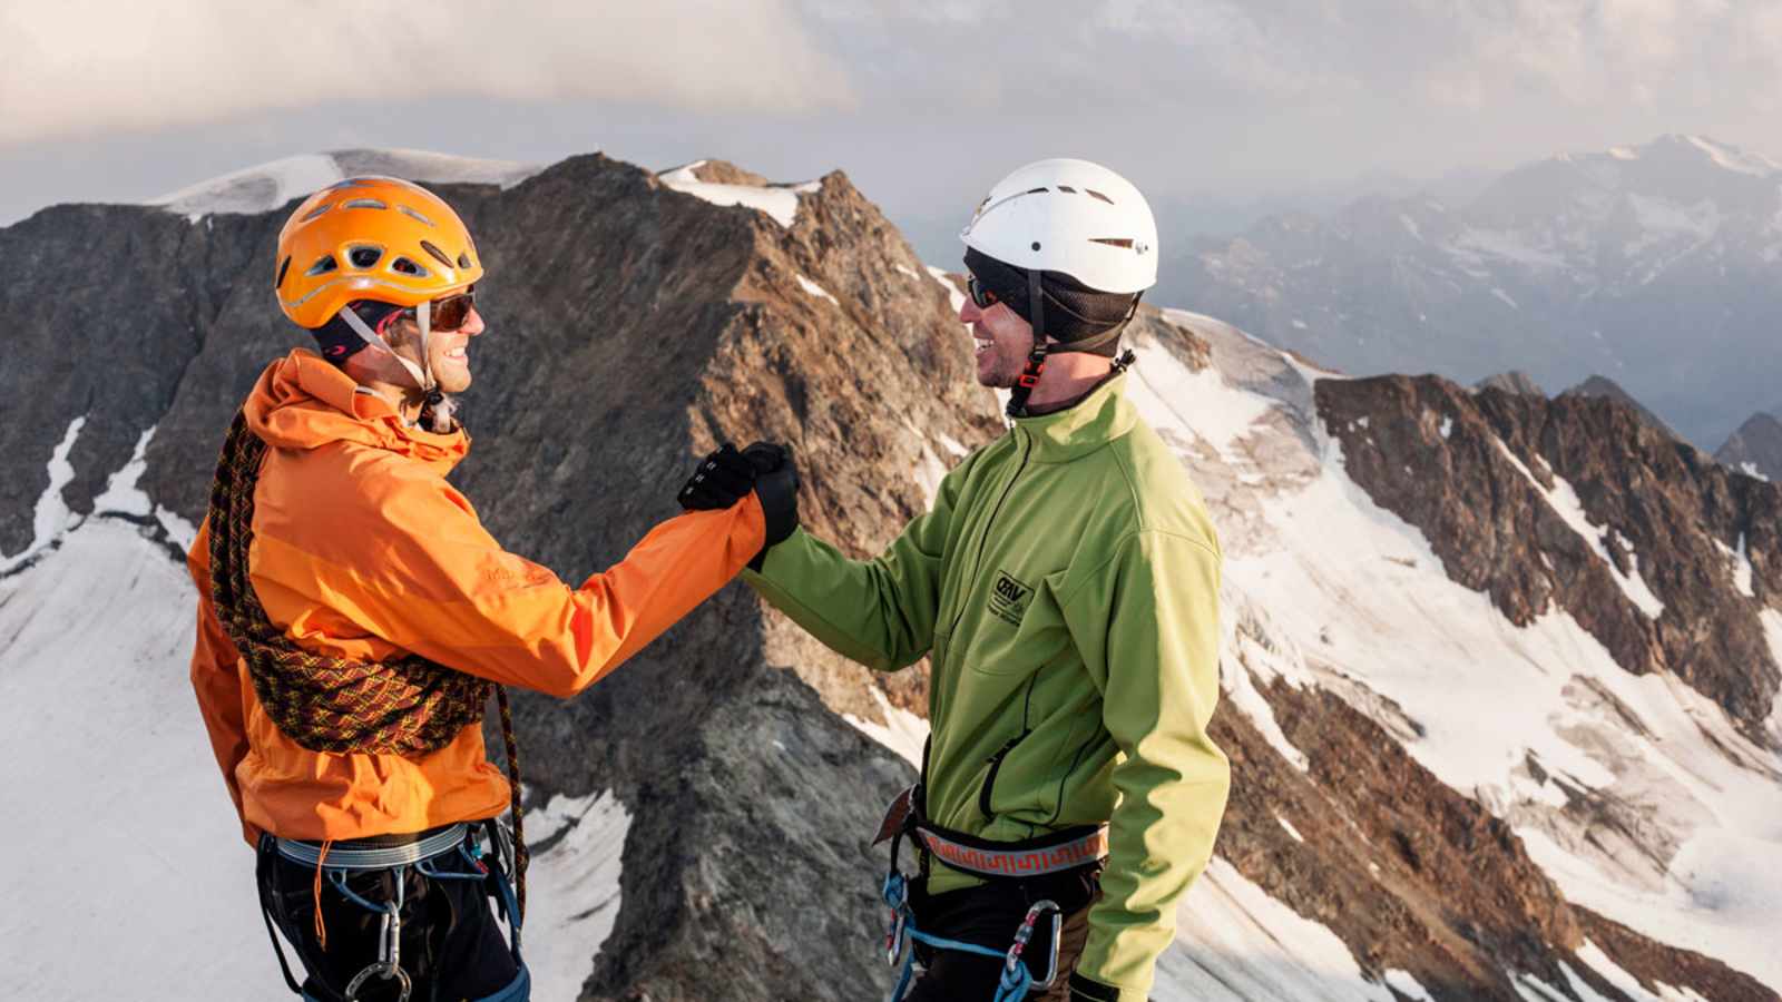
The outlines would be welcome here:
M 870 669 L 930 656 L 930 820 L 1003 842 L 1112 822 L 1076 970 L 1123 1002 L 1146 998 L 1230 788 L 1206 735 L 1219 540 L 1124 382 L 966 456 L 880 556 L 800 530 L 747 572 Z M 936 861 L 928 890 L 975 883 Z

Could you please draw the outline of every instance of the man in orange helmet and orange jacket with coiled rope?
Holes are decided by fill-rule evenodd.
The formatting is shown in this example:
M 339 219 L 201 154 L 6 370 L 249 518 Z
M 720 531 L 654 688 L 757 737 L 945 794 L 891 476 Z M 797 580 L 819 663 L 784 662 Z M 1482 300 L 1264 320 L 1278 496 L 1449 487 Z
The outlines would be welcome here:
M 527 998 L 485 900 L 510 927 L 524 913 L 524 842 L 492 822 L 519 799 L 485 754 L 488 683 L 581 692 L 768 542 L 747 496 L 656 526 L 581 587 L 504 551 L 446 480 L 469 449 L 451 394 L 470 383 L 481 275 L 419 185 L 351 178 L 299 205 L 274 285 L 319 353 L 260 374 L 187 558 L 192 686 L 262 908 L 308 972 L 299 986 L 280 952 L 285 981 L 319 1002 Z M 725 448 L 707 476 L 752 474 Z

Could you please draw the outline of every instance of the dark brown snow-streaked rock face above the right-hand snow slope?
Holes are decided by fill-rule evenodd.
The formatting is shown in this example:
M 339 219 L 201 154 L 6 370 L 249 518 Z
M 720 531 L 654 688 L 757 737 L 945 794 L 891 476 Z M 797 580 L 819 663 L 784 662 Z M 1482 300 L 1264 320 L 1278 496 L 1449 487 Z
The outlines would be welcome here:
M 1782 588 L 1782 487 L 1606 398 L 1379 376 L 1322 380 L 1317 403 L 1354 481 L 1424 531 L 1449 578 L 1518 626 L 1565 608 L 1623 669 L 1668 669 L 1764 740 L 1782 672 L 1759 613 Z M 1561 515 L 1572 497 L 1595 540 Z M 1741 540 L 1752 595 L 1730 567 Z

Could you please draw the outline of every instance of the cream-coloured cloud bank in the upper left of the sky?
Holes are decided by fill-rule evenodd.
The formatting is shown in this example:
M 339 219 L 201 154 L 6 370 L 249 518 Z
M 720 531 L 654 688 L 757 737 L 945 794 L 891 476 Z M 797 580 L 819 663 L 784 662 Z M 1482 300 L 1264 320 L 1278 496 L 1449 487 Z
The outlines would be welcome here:
M 18 0 L 0 4 L 0 144 L 330 102 L 782 116 L 857 100 L 782 0 Z

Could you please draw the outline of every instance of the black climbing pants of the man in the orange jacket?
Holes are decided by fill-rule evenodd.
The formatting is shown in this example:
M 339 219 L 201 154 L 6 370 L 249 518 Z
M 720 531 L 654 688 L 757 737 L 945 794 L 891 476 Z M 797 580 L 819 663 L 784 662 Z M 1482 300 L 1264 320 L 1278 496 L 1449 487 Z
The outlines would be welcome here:
M 456 859 L 456 870 L 474 872 Z M 396 900 L 396 881 L 403 881 L 401 966 L 413 981 L 410 1002 L 458 1002 L 462 998 L 526 997 L 520 963 L 490 911 L 490 897 L 499 897 L 501 868 L 488 859 L 481 881 L 437 879 L 415 866 L 367 870 L 346 875 L 346 886 L 369 902 Z M 444 868 L 444 866 L 442 866 Z M 296 947 L 308 979 L 305 998 L 342 1002 L 346 988 L 367 965 L 378 961 L 378 936 L 383 918 L 344 897 L 321 877 L 321 913 L 326 949 L 315 929 L 317 868 L 278 854 L 271 836 L 260 842 L 257 866 L 260 902 L 267 915 Z M 517 991 L 517 993 L 515 993 Z M 399 988 L 392 979 L 372 975 L 358 991 L 360 1002 L 394 1002 Z

